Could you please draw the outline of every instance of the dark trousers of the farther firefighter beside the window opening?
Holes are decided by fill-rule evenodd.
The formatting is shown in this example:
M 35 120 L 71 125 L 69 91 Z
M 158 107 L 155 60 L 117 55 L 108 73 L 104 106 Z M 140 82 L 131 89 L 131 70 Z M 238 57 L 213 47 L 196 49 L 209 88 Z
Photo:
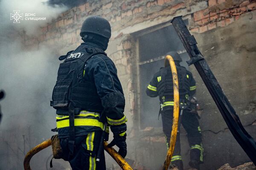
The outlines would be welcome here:
M 169 142 L 172 133 L 172 119 L 173 109 L 164 110 L 161 112 L 163 122 L 163 133 L 166 136 L 166 144 L 169 149 Z M 187 138 L 190 147 L 190 161 L 198 161 L 199 164 L 203 162 L 203 146 L 202 135 L 198 122 L 198 117 L 194 113 L 189 112 L 187 109 L 183 110 L 181 124 L 186 130 Z M 172 155 L 171 164 L 176 165 L 179 170 L 183 170 L 183 162 L 180 154 L 180 133 L 177 133 L 174 153 Z

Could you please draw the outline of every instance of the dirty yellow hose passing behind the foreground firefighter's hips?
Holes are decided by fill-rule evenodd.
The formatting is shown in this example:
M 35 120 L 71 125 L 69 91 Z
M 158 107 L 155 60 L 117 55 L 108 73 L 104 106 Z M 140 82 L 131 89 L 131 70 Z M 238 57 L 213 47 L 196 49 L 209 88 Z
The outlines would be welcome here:
M 24 170 L 31 170 L 30 168 L 30 160 L 32 156 L 34 156 L 36 153 L 40 152 L 41 150 L 49 147 L 51 145 L 51 139 L 48 139 L 47 141 L 42 142 L 41 144 L 38 144 L 36 147 L 34 147 L 32 150 L 30 150 L 23 161 Z M 122 156 L 120 156 L 113 147 L 108 147 L 108 142 L 104 141 L 104 149 L 109 153 L 112 158 L 116 161 L 117 164 L 122 168 L 122 170 L 132 170 L 131 166 L 125 161 Z

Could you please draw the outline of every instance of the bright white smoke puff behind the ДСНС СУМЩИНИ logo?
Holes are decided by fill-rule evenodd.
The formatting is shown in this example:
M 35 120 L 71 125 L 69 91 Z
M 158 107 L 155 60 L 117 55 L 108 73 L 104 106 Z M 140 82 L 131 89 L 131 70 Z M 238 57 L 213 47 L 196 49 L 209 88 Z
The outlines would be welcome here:
M 19 10 L 19 14 L 23 14 L 23 20 L 20 19 L 20 23 L 13 23 L 14 20 L 10 20 L 10 14 L 13 14 L 14 10 Z M 0 29 L 7 31 L 8 27 L 12 26 L 17 31 L 24 30 L 27 35 L 33 35 L 40 26 L 50 23 L 65 10 L 67 10 L 65 6 L 48 6 L 47 0 L 1 0 Z M 46 20 L 25 20 L 25 14 L 35 14 L 32 17 L 45 17 Z

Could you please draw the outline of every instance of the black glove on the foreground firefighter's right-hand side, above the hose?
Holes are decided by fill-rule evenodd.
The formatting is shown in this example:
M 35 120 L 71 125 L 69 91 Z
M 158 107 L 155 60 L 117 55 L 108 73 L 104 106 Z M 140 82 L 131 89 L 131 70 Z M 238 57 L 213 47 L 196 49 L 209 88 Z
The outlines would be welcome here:
M 126 145 L 126 124 L 116 125 L 110 127 L 111 131 L 113 132 L 113 141 L 108 144 L 108 147 L 113 147 L 116 145 L 119 147 L 118 153 L 125 158 L 127 154 L 127 145 Z

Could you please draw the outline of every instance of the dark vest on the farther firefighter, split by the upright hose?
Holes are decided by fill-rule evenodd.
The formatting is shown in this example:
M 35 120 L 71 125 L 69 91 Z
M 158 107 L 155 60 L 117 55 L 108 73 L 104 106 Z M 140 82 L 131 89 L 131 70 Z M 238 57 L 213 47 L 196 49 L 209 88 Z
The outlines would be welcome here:
M 187 78 L 187 72 L 185 67 L 176 66 L 178 83 L 179 83 L 179 95 L 180 99 L 186 99 L 186 95 L 189 94 L 189 79 Z M 174 101 L 173 99 L 173 81 L 172 71 L 170 68 L 160 69 L 161 81 L 157 84 L 157 92 L 161 102 Z

